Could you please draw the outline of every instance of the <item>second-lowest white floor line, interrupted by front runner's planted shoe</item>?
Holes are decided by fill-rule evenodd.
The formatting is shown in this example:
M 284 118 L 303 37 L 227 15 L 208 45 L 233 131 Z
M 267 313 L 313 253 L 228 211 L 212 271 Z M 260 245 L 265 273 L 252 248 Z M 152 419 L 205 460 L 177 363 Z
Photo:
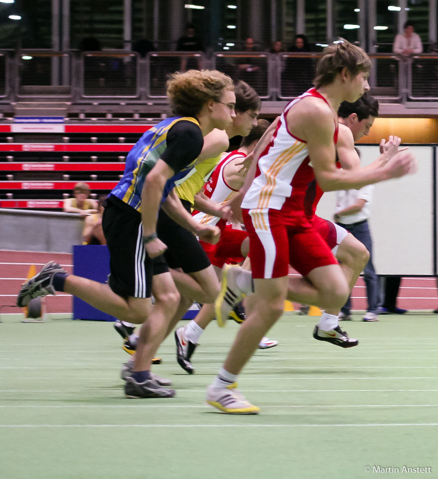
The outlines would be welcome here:
M 209 408 L 210 406 L 205 406 L 203 404 L 178 404 L 178 405 L 159 405 L 159 404 L 139 404 L 138 406 L 125 406 L 125 405 L 64 405 L 64 406 L 0 406 L 0 408 L 12 408 L 12 409 L 28 409 L 28 408 L 39 408 L 39 409 L 67 409 L 67 408 L 130 408 L 130 409 L 149 409 L 149 408 L 160 408 L 160 409 L 172 409 L 172 408 Z M 283 408 L 283 409 L 312 409 L 312 408 L 438 408 L 438 404 L 332 404 L 329 406 L 325 405 L 305 405 L 305 406 L 293 406 L 293 405 L 274 405 L 274 404 L 264 404 L 264 408 Z

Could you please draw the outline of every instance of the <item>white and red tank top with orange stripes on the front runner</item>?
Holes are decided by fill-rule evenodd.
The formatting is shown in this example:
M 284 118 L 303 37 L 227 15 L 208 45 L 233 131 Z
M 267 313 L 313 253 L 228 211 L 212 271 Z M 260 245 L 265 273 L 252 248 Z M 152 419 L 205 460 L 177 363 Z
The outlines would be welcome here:
M 256 176 L 242 202 L 242 208 L 259 211 L 282 210 L 290 216 L 310 217 L 314 214 L 322 190 L 315 175 L 304 140 L 288 130 L 286 115 L 305 97 L 327 100 L 315 88 L 292 100 L 283 111 L 273 139 L 261 154 Z M 333 135 L 337 142 L 338 126 Z

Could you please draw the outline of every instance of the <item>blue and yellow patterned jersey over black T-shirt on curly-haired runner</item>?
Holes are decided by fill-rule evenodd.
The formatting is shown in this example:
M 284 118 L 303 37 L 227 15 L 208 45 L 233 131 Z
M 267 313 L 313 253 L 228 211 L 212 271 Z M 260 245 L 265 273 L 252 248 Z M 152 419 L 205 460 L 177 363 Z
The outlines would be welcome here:
M 190 121 L 199 127 L 199 122 L 195 118 L 178 116 L 166 118 L 144 133 L 128 153 L 123 178 L 115 186 L 110 195 L 119 198 L 135 210 L 141 211 L 142 190 L 146 175 L 164 153 L 167 147 L 167 133 L 170 128 L 182 120 Z M 162 201 L 165 200 L 175 185 L 181 184 L 186 178 L 193 174 L 195 161 L 196 158 L 181 170 L 177 171 L 175 175 L 166 182 Z

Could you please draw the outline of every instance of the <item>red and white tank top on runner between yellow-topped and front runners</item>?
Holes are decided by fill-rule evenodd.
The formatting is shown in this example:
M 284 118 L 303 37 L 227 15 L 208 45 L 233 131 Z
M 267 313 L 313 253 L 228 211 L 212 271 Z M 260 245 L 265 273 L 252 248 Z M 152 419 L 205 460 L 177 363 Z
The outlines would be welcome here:
M 204 185 L 204 194 L 210 198 L 215 203 L 222 205 L 226 201 L 231 200 L 234 196 L 237 195 L 238 191 L 233 190 L 227 185 L 227 182 L 224 178 L 224 168 L 230 163 L 230 161 L 235 160 L 236 158 L 245 158 L 245 153 L 234 150 L 231 153 L 225 153 L 223 159 L 219 162 L 217 167 L 214 169 L 210 178 Z M 208 215 L 207 213 L 202 213 L 199 211 L 194 211 L 192 213 L 193 218 L 203 224 L 203 225 L 216 225 L 220 218 L 217 216 Z

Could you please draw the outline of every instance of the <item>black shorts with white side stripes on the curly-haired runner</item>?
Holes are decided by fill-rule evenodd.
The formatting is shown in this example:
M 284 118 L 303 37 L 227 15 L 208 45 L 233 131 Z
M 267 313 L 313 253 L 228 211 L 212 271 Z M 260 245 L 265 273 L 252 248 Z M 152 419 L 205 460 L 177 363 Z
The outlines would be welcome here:
M 110 288 L 120 296 L 149 298 L 152 276 L 169 269 L 164 257 L 150 259 L 143 245 L 142 217 L 116 197 L 110 197 L 102 217 L 110 251 Z

